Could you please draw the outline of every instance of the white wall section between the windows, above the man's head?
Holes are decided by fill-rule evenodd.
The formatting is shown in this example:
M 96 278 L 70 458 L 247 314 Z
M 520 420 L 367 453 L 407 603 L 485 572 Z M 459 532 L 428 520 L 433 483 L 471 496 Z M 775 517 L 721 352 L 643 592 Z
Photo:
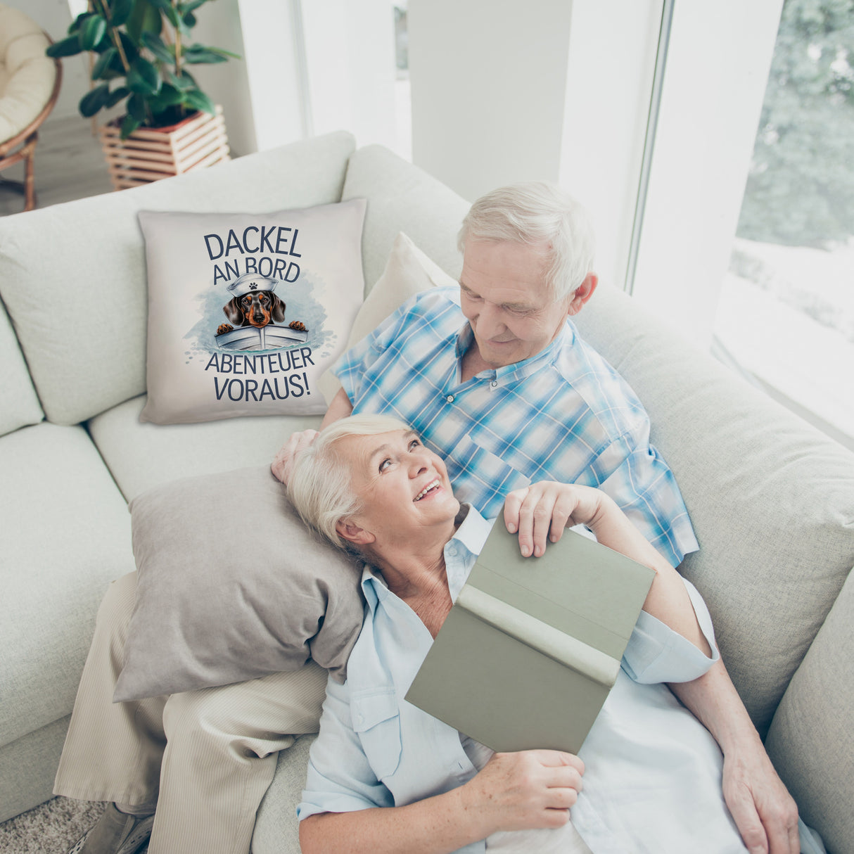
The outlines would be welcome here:
M 412 161 L 474 199 L 559 177 L 572 3 L 410 0 Z

